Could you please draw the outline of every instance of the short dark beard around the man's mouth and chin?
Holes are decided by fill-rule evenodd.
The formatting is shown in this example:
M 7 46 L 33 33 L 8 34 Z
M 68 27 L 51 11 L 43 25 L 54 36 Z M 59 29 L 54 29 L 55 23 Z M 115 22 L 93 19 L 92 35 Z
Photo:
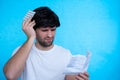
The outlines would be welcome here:
M 52 38 L 46 37 L 44 39 L 39 38 L 37 40 L 39 45 L 41 45 L 42 47 L 50 47 L 53 44 L 54 37 Z

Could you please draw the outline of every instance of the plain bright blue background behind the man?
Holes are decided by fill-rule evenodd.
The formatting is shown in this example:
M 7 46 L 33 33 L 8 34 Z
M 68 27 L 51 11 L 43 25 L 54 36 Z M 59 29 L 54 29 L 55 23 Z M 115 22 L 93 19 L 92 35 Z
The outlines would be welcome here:
M 72 54 L 92 52 L 90 80 L 120 80 L 119 0 L 1 0 L 0 80 L 12 51 L 26 40 L 22 20 L 28 10 L 48 6 L 57 13 L 61 26 L 55 44 Z

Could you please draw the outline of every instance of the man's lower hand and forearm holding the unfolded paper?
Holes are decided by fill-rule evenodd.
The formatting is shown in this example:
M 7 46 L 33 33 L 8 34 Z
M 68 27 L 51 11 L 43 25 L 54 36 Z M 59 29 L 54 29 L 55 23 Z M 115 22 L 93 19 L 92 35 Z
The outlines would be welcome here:
M 65 80 L 89 80 L 89 74 L 84 72 L 77 75 L 66 75 Z

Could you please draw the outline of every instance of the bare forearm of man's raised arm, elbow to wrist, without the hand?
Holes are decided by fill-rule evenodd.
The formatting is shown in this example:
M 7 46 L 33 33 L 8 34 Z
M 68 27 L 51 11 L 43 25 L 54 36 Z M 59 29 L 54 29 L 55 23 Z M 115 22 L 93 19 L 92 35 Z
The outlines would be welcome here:
M 34 38 L 29 38 L 15 55 L 7 62 L 4 67 L 4 73 L 8 79 L 17 79 L 22 73 L 25 62 L 28 58 Z

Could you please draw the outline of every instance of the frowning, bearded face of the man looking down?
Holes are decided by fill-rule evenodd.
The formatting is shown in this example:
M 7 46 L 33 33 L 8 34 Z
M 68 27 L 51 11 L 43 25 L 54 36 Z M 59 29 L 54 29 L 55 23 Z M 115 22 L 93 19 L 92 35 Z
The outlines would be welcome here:
M 36 29 L 36 39 L 39 45 L 43 47 L 49 47 L 52 45 L 54 40 L 54 35 L 56 32 L 56 27 L 46 27 L 46 28 L 37 28 Z

